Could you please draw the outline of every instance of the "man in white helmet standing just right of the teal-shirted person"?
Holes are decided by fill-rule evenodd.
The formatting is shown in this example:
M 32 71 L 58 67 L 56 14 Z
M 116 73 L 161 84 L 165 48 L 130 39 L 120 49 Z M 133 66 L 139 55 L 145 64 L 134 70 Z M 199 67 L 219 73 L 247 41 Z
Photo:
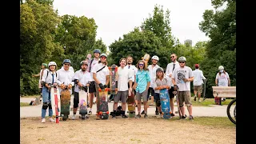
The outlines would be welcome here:
M 150 87 L 149 87 L 149 90 L 147 92 L 147 98 L 149 100 L 151 100 L 151 98 L 154 98 L 154 84 L 153 84 L 153 81 L 156 77 L 156 70 L 160 67 L 158 66 L 158 61 L 159 61 L 159 58 L 157 55 L 154 55 L 152 58 L 151 58 L 151 62 L 152 62 L 152 65 L 148 66 L 148 70 L 149 70 L 149 73 L 150 73 Z M 150 94 L 151 94 L 151 97 L 150 97 Z M 155 102 L 156 103 L 156 102 Z M 145 114 L 145 111 L 143 110 L 142 111 L 142 114 Z M 155 114 L 158 115 L 159 112 L 158 112 L 158 108 L 157 106 L 155 106 Z

